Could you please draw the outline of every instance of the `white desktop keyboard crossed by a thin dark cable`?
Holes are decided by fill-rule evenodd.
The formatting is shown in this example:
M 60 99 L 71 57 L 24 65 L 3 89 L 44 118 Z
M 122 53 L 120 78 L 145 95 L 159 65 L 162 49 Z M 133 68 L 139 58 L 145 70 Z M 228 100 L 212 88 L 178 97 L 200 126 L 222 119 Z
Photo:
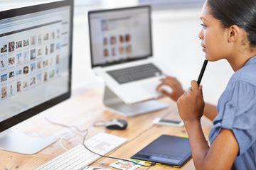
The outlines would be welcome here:
M 101 132 L 93 137 L 90 137 L 90 139 L 85 140 L 85 145 L 93 152 L 105 155 L 126 141 L 127 139 L 124 137 L 118 137 Z M 63 154 L 60 154 L 58 157 L 51 159 L 49 162 L 46 162 L 46 164 L 39 166 L 36 170 L 79 170 L 85 168 L 85 166 L 88 166 L 99 158 L 100 156 L 88 151 L 81 144 L 69 149 Z

